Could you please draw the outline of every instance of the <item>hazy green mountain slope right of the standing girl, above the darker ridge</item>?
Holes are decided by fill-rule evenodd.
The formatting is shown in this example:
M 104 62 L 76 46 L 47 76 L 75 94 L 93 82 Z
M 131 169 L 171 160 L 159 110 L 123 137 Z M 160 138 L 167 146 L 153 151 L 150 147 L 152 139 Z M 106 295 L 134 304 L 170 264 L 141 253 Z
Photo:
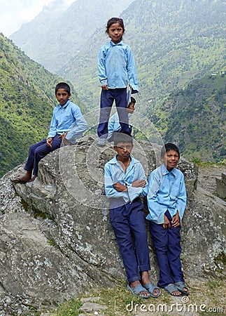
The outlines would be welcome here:
M 162 98 L 190 79 L 223 70 L 225 13 L 221 0 L 137 0 L 122 14 L 143 99 Z

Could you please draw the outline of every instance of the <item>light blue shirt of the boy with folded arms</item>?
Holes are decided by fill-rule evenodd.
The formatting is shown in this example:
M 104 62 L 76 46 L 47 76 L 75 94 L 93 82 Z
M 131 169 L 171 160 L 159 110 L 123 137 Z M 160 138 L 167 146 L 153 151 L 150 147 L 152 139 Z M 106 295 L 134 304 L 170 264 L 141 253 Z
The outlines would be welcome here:
M 139 162 L 139 160 L 132 159 L 127 171 L 122 169 L 120 162 L 117 160 L 117 155 L 107 162 L 104 166 L 104 185 L 105 192 L 108 198 L 115 199 L 123 199 L 126 203 L 132 202 L 136 197 L 141 195 L 147 195 L 148 192 L 148 183 L 145 187 L 132 187 L 132 183 L 135 180 L 146 180 L 146 175 L 143 170 L 143 166 Z M 121 183 L 122 185 L 126 185 L 128 192 L 118 192 L 114 189 L 114 183 Z

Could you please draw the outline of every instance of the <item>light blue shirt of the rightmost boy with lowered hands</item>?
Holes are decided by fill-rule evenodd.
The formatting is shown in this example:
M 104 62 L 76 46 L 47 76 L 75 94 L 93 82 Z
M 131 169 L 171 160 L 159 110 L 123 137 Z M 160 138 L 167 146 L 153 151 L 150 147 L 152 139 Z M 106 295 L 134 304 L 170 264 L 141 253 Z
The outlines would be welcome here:
M 162 164 L 150 173 L 148 179 L 148 210 L 146 217 L 157 224 L 164 223 L 164 213 L 171 217 L 179 212 L 180 219 L 186 206 L 186 189 L 183 173 L 174 168 L 170 172 Z

